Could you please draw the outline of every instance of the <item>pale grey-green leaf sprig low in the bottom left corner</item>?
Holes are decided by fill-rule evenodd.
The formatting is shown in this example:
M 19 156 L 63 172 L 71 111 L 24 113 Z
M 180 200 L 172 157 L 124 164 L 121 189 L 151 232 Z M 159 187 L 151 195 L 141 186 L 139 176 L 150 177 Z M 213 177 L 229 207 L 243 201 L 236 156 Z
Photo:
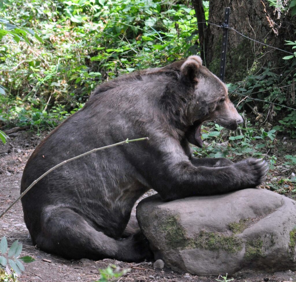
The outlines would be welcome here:
M 8 254 L 6 254 L 8 250 Z M 24 265 L 22 264 L 21 260 L 24 262 L 32 262 L 34 261 L 33 258 L 31 257 L 21 257 L 18 258 L 20 253 L 22 252 L 22 244 L 19 244 L 18 240 L 12 243 L 10 248 L 8 249 L 7 245 L 7 239 L 6 237 L 2 237 L 0 241 L 0 268 L 6 269 L 6 267 L 9 265 L 10 268 L 13 269 L 13 271 L 17 274 L 20 275 L 22 271 L 25 270 Z M 8 261 L 7 261 L 8 259 Z M 8 268 L 9 270 L 9 268 Z M 13 280 L 14 281 L 14 280 Z

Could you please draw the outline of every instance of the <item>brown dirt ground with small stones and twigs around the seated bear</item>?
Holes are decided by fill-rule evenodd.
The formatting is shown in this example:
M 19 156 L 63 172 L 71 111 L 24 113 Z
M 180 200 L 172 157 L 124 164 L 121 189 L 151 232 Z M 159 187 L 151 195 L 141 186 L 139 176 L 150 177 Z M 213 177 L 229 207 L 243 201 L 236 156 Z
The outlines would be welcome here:
M 43 137 L 29 131 L 19 131 L 10 134 L 11 140 L 7 145 L 0 145 L 0 212 L 4 211 L 19 195 L 20 181 L 25 163 L 34 148 Z M 150 192 L 150 194 L 153 192 Z M 18 202 L 9 212 L 0 219 L 0 238 L 6 236 L 8 244 L 18 239 L 23 244 L 22 256 L 30 255 L 35 262 L 25 265 L 25 271 L 20 275 L 19 281 L 43 282 L 72 282 L 96 281 L 100 278 L 99 269 L 109 264 L 119 268 L 131 270 L 119 281 L 216 281 L 218 276 L 194 276 L 188 273 L 176 273 L 169 268 L 156 270 L 153 262 L 127 263 L 117 260 L 65 260 L 62 257 L 47 254 L 32 245 L 28 229 L 23 220 L 21 203 Z M 221 273 L 225 275 L 226 273 Z M 228 277 L 230 279 L 231 277 Z M 223 280 L 219 278 L 220 280 Z M 288 270 L 278 273 L 247 272 L 239 273 L 234 281 L 296 281 L 296 273 Z

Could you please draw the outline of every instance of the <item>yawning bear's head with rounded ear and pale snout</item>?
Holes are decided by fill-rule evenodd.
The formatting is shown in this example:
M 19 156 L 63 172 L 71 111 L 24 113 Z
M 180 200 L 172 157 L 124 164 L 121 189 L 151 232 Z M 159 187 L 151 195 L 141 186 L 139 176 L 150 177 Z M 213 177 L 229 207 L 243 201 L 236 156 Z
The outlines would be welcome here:
M 180 67 L 181 80 L 191 91 L 192 103 L 188 118 L 192 126 L 186 132 L 190 143 L 202 147 L 200 129 L 202 122 L 213 120 L 220 126 L 235 130 L 243 122 L 228 98 L 226 85 L 206 67 L 199 56 L 190 56 Z

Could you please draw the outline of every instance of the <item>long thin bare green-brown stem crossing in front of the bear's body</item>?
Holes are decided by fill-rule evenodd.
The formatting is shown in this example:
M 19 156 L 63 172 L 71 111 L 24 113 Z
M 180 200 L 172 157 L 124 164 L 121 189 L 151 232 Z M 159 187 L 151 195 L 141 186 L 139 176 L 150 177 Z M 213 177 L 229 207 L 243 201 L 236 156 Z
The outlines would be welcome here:
M 107 149 L 107 148 L 111 148 L 111 147 L 115 147 L 115 146 L 118 146 L 118 145 L 122 145 L 122 144 L 126 144 L 126 143 L 130 143 L 130 142 L 135 142 L 135 141 L 143 141 L 143 140 L 148 140 L 148 137 L 144 137 L 144 138 L 138 138 L 138 139 L 132 139 L 132 140 L 128 140 L 126 139 L 125 141 L 122 141 L 122 142 L 119 142 L 119 143 L 115 143 L 115 144 L 112 144 L 112 145 L 108 145 L 108 146 L 104 146 L 104 147 L 101 147 L 101 148 L 95 148 L 95 149 L 92 149 L 86 153 L 83 153 L 81 155 L 78 155 L 76 157 L 73 157 L 73 158 L 70 158 L 68 160 L 65 160 L 65 161 L 62 161 L 61 163 L 57 164 L 56 166 L 50 168 L 48 171 L 46 171 L 44 174 L 42 174 L 39 178 L 37 178 L 36 180 L 34 180 L 31 185 L 25 189 L 24 192 L 22 192 L 22 194 L 3 212 L 1 213 L 0 215 L 0 218 L 5 214 L 7 213 L 15 204 L 18 200 L 20 200 L 39 180 L 41 180 L 44 176 L 46 176 L 47 174 L 49 174 L 50 172 L 52 172 L 54 169 L 58 168 L 59 166 L 62 166 L 63 164 L 65 163 L 69 163 L 70 161 L 74 161 L 78 158 L 81 158 L 85 155 L 89 155 L 91 153 L 94 153 L 96 151 L 99 151 L 99 150 L 103 150 L 103 149 Z

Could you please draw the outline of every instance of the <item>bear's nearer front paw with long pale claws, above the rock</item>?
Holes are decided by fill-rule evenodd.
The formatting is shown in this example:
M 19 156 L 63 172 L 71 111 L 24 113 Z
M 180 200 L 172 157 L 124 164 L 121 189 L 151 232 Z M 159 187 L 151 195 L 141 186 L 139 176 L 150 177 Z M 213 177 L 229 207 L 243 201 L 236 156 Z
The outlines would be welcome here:
M 234 164 L 240 171 L 243 188 L 260 185 L 268 171 L 268 163 L 262 159 L 248 158 Z

